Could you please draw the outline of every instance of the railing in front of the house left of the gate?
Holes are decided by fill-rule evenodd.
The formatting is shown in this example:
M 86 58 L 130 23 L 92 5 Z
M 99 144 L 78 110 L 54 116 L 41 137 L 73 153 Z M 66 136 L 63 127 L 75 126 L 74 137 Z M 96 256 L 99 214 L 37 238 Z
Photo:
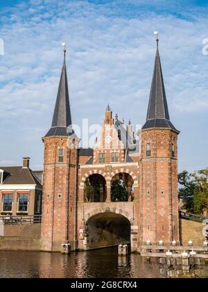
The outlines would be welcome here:
M 0 220 L 3 221 L 5 225 L 34 224 L 42 222 L 42 215 L 0 216 Z

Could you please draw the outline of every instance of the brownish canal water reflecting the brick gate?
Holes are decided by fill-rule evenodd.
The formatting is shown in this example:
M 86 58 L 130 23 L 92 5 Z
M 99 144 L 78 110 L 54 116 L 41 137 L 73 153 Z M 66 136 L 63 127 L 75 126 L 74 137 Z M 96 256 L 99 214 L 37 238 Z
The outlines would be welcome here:
M 118 257 L 117 248 L 72 252 L 69 256 L 45 252 L 0 252 L 0 277 L 176 277 L 180 269 L 170 270 L 157 259 L 146 261 L 137 254 Z M 208 267 L 192 271 L 208 277 Z

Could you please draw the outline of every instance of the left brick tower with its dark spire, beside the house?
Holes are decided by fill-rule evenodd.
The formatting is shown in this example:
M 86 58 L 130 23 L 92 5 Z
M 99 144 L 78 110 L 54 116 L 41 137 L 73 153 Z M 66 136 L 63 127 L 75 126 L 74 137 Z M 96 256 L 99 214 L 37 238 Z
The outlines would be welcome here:
M 71 126 L 66 49 L 51 129 L 44 142 L 42 250 L 60 251 L 63 243 L 76 247 L 77 149 Z M 69 147 L 74 144 L 75 147 Z

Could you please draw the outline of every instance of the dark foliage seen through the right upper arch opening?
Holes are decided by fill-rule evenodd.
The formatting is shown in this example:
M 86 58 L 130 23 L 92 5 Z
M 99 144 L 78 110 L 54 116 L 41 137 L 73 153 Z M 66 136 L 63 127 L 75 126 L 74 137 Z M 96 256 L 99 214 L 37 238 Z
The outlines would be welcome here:
M 124 181 L 120 179 L 112 181 L 111 200 L 112 202 L 128 201 L 128 190 Z

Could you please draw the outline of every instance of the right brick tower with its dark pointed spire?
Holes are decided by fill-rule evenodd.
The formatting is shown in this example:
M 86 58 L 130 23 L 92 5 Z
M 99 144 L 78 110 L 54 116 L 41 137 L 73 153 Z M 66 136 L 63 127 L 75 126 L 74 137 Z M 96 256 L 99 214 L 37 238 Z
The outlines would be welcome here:
M 158 38 L 146 123 L 141 130 L 142 241 L 179 241 L 177 135 L 170 121 Z

